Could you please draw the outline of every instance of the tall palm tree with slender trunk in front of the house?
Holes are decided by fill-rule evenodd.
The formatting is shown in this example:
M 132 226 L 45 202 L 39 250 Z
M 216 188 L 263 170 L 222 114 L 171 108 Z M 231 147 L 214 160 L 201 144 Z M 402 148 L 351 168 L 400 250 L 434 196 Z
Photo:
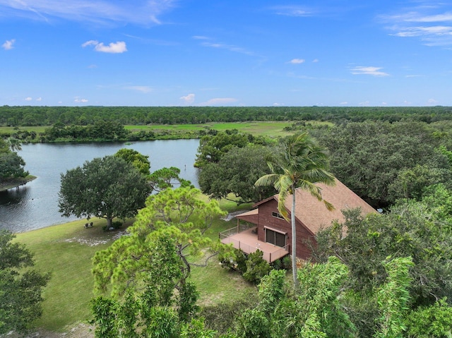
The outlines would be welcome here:
M 327 171 L 328 155 L 326 149 L 317 145 L 308 133 L 288 137 L 283 142 L 281 154 L 268 161 L 272 174 L 262 176 L 254 183 L 255 186 L 273 185 L 279 192 L 278 211 L 292 225 L 292 274 L 294 287 L 297 279 L 297 235 L 295 229 L 295 189 L 309 191 L 319 201 L 323 201 L 328 210 L 333 210 L 331 203 L 323 200 L 321 188 L 314 183 L 335 184 L 333 174 Z M 290 221 L 285 208 L 286 198 L 292 195 L 292 210 Z

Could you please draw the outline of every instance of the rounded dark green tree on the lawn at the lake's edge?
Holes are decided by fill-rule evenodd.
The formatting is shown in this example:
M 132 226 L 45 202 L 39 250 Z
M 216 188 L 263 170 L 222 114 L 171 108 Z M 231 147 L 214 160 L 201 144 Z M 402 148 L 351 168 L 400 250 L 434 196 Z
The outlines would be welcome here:
M 61 174 L 59 211 L 66 217 L 102 217 L 110 227 L 114 217 L 135 216 L 149 193 L 132 164 L 113 156 L 95 158 Z

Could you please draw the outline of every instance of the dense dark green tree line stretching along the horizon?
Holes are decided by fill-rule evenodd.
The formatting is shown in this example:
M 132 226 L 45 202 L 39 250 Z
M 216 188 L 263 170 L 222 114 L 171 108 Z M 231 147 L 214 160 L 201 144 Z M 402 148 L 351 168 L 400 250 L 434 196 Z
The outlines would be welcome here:
M 123 125 L 243 121 L 452 120 L 452 107 L 45 107 L 2 106 L 0 126 L 88 126 L 98 121 Z

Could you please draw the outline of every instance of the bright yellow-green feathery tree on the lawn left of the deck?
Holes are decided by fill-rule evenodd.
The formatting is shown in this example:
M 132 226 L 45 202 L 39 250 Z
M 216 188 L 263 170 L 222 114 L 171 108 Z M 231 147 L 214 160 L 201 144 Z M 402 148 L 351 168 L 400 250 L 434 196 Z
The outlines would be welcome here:
M 105 290 L 112 284 L 112 294 L 119 295 L 128 287 L 151 283 L 172 294 L 189 277 L 186 255 L 198 255 L 212 243 L 203 233 L 220 215 L 224 212 L 218 202 L 203 202 L 196 188 L 166 189 L 150 195 L 129 227 L 130 235 L 96 253 L 93 272 L 97 289 Z

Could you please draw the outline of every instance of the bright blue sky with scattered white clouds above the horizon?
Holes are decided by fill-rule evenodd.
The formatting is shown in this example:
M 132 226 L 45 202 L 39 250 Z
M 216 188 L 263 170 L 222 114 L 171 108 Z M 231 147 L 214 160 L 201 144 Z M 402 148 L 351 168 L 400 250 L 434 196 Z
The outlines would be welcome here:
M 0 105 L 452 106 L 451 1 L 0 0 Z

